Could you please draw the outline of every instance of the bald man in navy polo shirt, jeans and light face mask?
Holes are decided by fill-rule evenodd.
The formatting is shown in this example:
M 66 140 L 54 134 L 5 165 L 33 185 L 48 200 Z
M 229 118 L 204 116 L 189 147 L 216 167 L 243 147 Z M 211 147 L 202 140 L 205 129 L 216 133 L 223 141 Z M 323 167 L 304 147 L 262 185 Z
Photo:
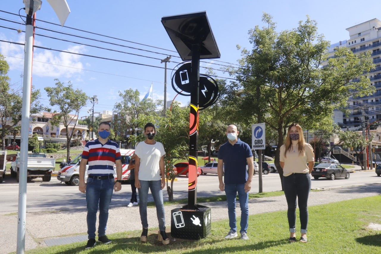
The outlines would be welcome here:
M 225 239 L 237 236 L 235 217 L 235 200 L 238 193 L 241 207 L 241 239 L 248 240 L 247 227 L 249 219 L 249 191 L 251 178 L 254 173 L 253 153 L 250 146 L 237 138 L 239 131 L 237 126 L 229 125 L 226 129 L 228 141 L 218 150 L 218 180 L 219 189 L 225 190 L 227 200 L 227 212 L 229 215 L 230 231 Z M 246 170 L 246 163 L 249 167 Z M 224 181 L 222 177 L 224 176 Z

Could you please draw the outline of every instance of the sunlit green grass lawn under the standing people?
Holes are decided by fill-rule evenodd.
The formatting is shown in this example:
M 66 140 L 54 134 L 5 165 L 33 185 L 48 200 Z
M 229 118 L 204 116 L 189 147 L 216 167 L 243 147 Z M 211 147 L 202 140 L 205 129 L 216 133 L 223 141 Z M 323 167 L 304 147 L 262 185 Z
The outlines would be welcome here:
M 247 241 L 224 240 L 229 222 L 221 220 L 212 222 L 210 235 L 199 241 L 176 239 L 162 246 L 156 240 L 157 229 L 149 229 L 146 244 L 139 242 L 140 230 L 124 231 L 108 235 L 111 244 L 98 242 L 89 250 L 84 249 L 86 242 L 81 242 L 26 253 L 380 253 L 381 232 L 367 228 L 369 223 L 381 224 L 380 196 L 309 207 L 308 243 L 288 243 L 287 212 L 279 211 L 251 215 Z

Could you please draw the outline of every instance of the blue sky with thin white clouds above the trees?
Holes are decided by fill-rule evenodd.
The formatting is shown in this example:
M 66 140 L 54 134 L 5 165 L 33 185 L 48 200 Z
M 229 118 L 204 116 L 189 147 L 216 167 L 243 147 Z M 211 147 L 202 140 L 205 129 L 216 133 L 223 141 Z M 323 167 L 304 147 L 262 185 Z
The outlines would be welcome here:
M 82 89 L 88 96 L 97 95 L 99 103 L 94 106 L 94 112 L 110 110 L 118 101 L 118 91 L 126 89 L 138 89 L 143 97 L 153 84 L 153 98 L 163 99 L 164 95 L 164 64 L 160 64 L 160 59 L 172 55 L 175 62 L 180 62 L 168 34 L 162 23 L 163 16 L 191 13 L 197 11 L 207 11 L 208 19 L 215 35 L 216 42 L 221 52 L 219 61 L 237 64 L 240 58 L 240 51 L 236 49 L 239 44 L 242 47 L 251 48 L 248 42 L 248 30 L 256 25 L 263 26 L 261 16 L 267 12 L 273 16 L 277 23 L 278 31 L 293 29 L 298 26 L 298 22 L 306 19 L 309 15 L 318 23 L 319 33 L 325 35 L 325 39 L 331 43 L 349 39 L 349 34 L 345 30 L 373 18 L 381 19 L 379 8 L 358 1 L 256 1 L 256 0 L 194 0 L 189 1 L 78 1 L 67 0 L 71 13 L 67 18 L 65 26 L 74 27 L 84 31 L 95 32 L 108 35 L 118 39 L 128 40 L 141 44 L 110 39 L 98 35 L 88 34 L 81 31 L 74 31 L 61 26 L 37 21 L 37 27 L 52 29 L 54 31 L 80 35 L 92 39 L 102 40 L 121 44 L 122 46 L 111 45 L 109 43 L 95 42 L 92 40 L 58 34 L 42 29 L 36 29 L 36 34 L 48 35 L 59 39 L 73 42 L 86 43 L 119 50 L 127 53 L 138 54 L 136 56 L 126 53 L 107 51 L 104 49 L 78 45 L 73 42 L 64 42 L 36 35 L 35 45 L 53 48 L 57 50 L 71 51 L 86 55 L 94 55 L 104 58 L 118 59 L 140 64 L 147 64 L 161 68 L 147 67 L 138 64 L 122 63 L 105 59 L 91 58 L 88 56 L 72 55 L 60 53 L 58 51 L 35 48 L 33 63 L 33 84 L 42 92 L 41 102 L 48 106 L 48 97 L 43 89 L 54 85 L 54 79 L 61 82 L 71 81 L 75 88 Z M 0 10 L 10 13 L 18 13 L 24 5 L 22 0 L 2 0 Z M 21 15 L 25 19 L 25 11 L 21 10 Z M 19 16 L 0 12 L 0 18 L 22 22 Z M 47 1 L 43 0 L 41 10 L 37 11 L 37 19 L 58 24 L 58 18 Z M 18 34 L 16 31 L 4 28 L 25 30 L 25 25 L 11 23 L 0 20 L 0 39 L 12 42 L 24 42 L 25 34 Z M 144 45 L 142 45 L 144 44 Z M 145 45 L 153 46 L 148 47 Z M 138 49 L 133 49 L 133 48 Z M 14 89 L 22 88 L 24 51 L 23 46 L 0 42 L 0 53 L 6 56 L 10 64 L 8 76 Z M 148 51 L 152 52 L 148 52 Z M 148 56 L 144 57 L 144 56 Z M 152 59 L 157 58 L 157 59 Z M 201 66 L 210 66 L 219 69 L 216 65 L 225 64 L 215 59 L 204 60 Z M 177 63 L 168 63 L 168 87 L 167 100 L 173 100 L 176 93 L 170 85 L 171 70 Z M 200 73 L 204 73 L 203 68 Z M 228 77 L 226 73 L 216 71 L 221 77 Z M 182 104 L 189 102 L 187 96 L 177 96 L 176 100 Z M 91 103 L 83 108 L 80 117 L 88 115 Z M 53 108 L 54 110 L 54 108 Z

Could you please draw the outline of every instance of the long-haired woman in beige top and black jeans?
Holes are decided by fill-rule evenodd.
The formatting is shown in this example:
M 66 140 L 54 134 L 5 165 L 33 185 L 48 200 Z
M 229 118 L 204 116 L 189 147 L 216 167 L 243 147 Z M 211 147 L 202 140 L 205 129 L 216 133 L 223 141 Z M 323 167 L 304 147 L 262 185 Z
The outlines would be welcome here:
M 296 197 L 298 197 L 301 224 L 300 241 L 307 243 L 308 209 L 307 201 L 311 189 L 309 174 L 314 168 L 314 150 L 304 140 L 303 129 L 299 124 L 288 127 L 286 142 L 280 147 L 280 166 L 283 169 L 283 190 L 287 200 L 287 218 L 290 228 L 288 241 L 296 241 Z

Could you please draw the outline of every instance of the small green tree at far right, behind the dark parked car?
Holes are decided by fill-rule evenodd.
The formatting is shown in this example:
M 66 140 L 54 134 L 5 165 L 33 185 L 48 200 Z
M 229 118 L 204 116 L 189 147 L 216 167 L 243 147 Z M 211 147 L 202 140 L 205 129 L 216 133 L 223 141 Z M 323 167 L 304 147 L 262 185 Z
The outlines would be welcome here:
M 372 142 L 373 140 L 373 134 L 372 136 L 367 140 L 366 137 L 364 137 L 359 132 L 340 132 L 339 133 L 339 144 L 341 144 L 344 148 L 353 148 L 353 151 L 356 153 L 357 161 L 360 162 L 361 169 L 364 170 L 363 165 L 363 159 L 362 155 L 363 151 L 367 148 L 367 146 Z

